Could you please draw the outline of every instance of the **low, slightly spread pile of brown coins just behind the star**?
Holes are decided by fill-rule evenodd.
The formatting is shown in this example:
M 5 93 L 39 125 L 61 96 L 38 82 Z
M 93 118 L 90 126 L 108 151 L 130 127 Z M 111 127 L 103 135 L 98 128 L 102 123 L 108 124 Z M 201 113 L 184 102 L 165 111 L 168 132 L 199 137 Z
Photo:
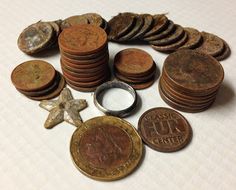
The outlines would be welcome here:
M 33 100 L 52 99 L 65 86 L 63 76 L 52 65 L 41 60 L 26 61 L 11 74 L 16 89 Z

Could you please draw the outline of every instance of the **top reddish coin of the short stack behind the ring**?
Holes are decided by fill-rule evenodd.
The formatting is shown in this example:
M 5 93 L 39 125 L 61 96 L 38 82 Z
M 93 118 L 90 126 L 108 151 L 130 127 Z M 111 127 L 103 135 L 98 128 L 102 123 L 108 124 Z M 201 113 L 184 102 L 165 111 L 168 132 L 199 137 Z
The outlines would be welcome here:
M 153 65 L 151 55 L 136 48 L 124 49 L 114 58 L 114 67 L 124 75 L 145 75 Z

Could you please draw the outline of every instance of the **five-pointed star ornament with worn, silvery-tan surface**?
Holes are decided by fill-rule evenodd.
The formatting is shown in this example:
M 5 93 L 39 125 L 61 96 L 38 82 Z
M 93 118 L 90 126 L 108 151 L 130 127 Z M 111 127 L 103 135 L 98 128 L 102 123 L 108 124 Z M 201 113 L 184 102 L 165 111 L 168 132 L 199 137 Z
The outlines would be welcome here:
M 50 129 L 63 121 L 79 127 L 82 124 L 79 112 L 87 107 L 87 102 L 74 99 L 71 91 L 64 88 L 57 100 L 43 100 L 39 106 L 50 112 L 44 123 L 45 128 Z

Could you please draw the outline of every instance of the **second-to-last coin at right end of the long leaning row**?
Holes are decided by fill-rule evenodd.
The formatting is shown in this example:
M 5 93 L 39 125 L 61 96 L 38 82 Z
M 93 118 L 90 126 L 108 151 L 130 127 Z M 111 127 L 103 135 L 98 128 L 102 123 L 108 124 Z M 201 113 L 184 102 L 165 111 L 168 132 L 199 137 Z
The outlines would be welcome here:
M 211 33 L 201 32 L 201 34 L 203 42 L 196 50 L 209 54 L 211 56 L 217 56 L 221 54 L 224 49 L 223 40 Z

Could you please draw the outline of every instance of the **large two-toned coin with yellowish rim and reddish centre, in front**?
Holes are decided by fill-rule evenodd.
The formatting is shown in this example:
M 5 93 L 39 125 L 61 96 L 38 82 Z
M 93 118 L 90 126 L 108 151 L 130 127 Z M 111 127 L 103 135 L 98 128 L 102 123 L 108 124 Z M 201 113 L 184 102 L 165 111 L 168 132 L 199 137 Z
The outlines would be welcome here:
M 86 176 L 103 181 L 130 174 L 138 166 L 142 150 L 142 140 L 134 127 L 113 116 L 84 122 L 70 143 L 75 166 Z

